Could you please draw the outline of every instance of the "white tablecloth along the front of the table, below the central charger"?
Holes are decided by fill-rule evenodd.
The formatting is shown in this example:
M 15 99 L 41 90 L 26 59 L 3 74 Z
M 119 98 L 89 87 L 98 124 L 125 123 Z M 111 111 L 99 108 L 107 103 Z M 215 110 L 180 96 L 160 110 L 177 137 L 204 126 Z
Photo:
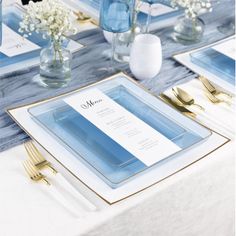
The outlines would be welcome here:
M 234 143 L 129 199 L 76 219 L 23 170 L 23 146 L 0 154 L 0 235 L 234 235 Z

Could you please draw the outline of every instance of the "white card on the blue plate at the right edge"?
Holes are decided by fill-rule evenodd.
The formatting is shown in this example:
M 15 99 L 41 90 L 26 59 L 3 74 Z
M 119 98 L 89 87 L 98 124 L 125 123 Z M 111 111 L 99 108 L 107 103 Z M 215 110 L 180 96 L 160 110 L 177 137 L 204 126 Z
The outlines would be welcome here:
M 216 51 L 232 58 L 236 59 L 236 38 L 227 40 L 223 43 L 219 43 L 216 46 L 212 47 Z

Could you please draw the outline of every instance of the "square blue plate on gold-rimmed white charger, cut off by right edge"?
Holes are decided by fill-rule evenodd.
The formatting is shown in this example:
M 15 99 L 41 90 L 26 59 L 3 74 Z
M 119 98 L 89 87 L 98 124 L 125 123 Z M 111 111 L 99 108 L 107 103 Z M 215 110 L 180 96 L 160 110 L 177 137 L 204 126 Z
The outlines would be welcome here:
M 235 60 L 214 50 L 215 47 L 222 46 L 231 40 L 235 40 L 235 35 L 194 50 L 175 54 L 173 58 L 196 74 L 206 77 L 220 89 L 235 96 Z M 231 51 L 233 50 L 235 49 Z

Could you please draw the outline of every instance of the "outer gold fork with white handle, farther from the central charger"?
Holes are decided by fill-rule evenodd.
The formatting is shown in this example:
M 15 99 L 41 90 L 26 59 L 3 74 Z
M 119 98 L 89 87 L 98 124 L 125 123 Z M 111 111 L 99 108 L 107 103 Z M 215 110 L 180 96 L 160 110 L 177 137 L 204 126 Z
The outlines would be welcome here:
M 40 173 L 29 160 L 25 160 L 23 162 L 23 166 L 31 180 L 37 183 L 46 183 L 46 185 L 44 186 L 46 186 L 47 192 L 49 192 L 53 198 L 60 202 L 60 204 L 62 204 L 66 209 L 68 209 L 74 216 L 77 216 L 75 207 L 71 205 L 60 192 L 57 191 L 57 189 L 47 180 L 46 176 Z

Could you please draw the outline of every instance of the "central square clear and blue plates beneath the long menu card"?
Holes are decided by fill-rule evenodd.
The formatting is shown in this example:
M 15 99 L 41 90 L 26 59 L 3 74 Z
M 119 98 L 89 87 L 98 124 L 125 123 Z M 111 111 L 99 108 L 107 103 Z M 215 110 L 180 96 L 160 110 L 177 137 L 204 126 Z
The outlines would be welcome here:
M 70 95 L 28 109 L 32 118 L 110 187 L 171 162 L 204 142 L 211 131 L 173 110 L 126 76 L 118 75 L 75 93 L 96 88 L 180 147 L 180 151 L 146 166 L 64 102 Z M 166 147 L 168 149 L 168 147 Z M 158 153 L 157 153 L 158 155 Z

